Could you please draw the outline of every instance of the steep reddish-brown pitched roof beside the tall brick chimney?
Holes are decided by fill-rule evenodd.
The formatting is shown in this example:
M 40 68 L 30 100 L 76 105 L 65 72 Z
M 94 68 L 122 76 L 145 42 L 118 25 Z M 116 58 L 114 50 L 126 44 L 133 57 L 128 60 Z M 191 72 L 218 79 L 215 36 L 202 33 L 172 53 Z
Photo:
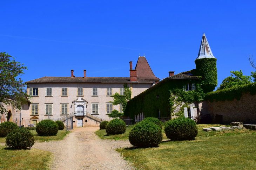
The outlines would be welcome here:
M 139 57 L 135 70 L 137 70 L 137 78 L 146 80 L 160 80 L 157 78 L 151 70 L 146 57 Z

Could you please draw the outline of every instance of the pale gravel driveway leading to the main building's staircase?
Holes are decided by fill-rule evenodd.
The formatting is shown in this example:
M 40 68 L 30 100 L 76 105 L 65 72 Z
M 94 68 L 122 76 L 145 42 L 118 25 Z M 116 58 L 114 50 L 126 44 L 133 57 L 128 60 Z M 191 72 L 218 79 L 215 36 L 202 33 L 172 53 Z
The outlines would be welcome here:
M 129 141 L 101 140 L 94 132 L 98 127 L 75 128 L 61 141 L 36 142 L 32 148 L 53 153 L 53 170 L 131 170 L 115 151 L 131 147 Z

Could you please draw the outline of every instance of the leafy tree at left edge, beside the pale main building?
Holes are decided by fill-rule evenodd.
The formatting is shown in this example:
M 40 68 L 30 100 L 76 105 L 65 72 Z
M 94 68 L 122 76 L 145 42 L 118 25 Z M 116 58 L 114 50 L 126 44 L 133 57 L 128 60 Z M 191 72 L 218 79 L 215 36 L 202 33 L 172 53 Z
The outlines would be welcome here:
M 26 104 L 31 96 L 27 95 L 21 76 L 25 74 L 23 70 L 27 67 L 15 61 L 15 58 L 0 52 L 0 113 L 6 113 L 5 105 L 12 105 L 21 110 L 21 107 Z

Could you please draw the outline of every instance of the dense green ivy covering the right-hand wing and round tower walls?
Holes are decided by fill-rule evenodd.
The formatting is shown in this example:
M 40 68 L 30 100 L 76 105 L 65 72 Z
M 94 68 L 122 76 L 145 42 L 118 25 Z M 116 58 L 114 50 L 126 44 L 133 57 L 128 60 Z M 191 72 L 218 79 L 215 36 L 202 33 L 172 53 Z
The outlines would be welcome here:
M 206 93 L 217 86 L 216 61 L 216 58 L 196 59 L 196 69 L 191 73 L 198 79 L 164 79 L 129 100 L 124 115 L 133 119 L 143 112 L 145 117 L 159 117 L 160 111 L 161 117 L 182 116 L 184 107 L 204 100 Z M 196 90 L 184 91 L 183 86 L 188 83 L 195 83 Z

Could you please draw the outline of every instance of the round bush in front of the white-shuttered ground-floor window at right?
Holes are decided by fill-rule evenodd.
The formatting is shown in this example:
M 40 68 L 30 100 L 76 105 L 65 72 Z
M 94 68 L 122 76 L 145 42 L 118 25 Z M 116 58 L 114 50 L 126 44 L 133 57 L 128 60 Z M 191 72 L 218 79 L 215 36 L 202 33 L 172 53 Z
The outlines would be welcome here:
M 197 136 L 196 122 L 184 116 L 166 122 L 164 132 L 170 140 L 193 140 Z

